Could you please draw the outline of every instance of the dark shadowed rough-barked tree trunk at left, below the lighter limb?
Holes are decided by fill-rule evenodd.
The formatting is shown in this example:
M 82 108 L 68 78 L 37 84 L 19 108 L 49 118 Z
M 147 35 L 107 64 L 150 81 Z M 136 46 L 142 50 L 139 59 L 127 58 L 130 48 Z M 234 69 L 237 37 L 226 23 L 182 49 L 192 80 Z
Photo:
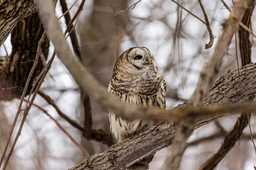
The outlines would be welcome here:
M 22 10 L 24 11 L 25 9 Z M 16 18 L 16 20 L 18 19 Z M 9 56 L 0 57 L 0 100 L 11 100 L 21 96 L 32 68 L 33 60 L 35 59 L 38 41 L 43 32 L 43 25 L 38 18 L 38 13 L 33 13 L 29 17 L 21 19 L 12 30 L 12 53 Z M 48 48 L 49 40 L 46 38 L 41 45 L 41 50 L 45 58 L 48 55 Z M 32 76 L 32 81 L 43 67 L 43 62 L 39 59 Z M 29 94 L 32 88 L 32 81 L 27 94 Z

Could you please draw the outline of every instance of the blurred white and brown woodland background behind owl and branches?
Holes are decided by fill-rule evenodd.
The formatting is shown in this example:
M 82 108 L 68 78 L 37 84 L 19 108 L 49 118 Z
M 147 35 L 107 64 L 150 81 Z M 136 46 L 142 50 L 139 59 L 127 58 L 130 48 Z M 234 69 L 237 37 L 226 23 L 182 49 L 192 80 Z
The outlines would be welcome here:
M 75 0 L 66 0 L 68 8 Z M 222 23 L 230 12 L 220 0 L 203 0 L 210 26 L 215 37 L 212 48 L 205 50 L 209 42 L 206 26 L 198 19 L 179 8 L 171 0 L 142 0 L 134 9 L 129 9 L 114 17 L 119 11 L 131 6 L 137 0 L 86 0 L 79 16 L 76 33 L 81 44 L 83 62 L 99 82 L 106 88 L 112 76 L 113 65 L 123 51 L 134 46 L 145 46 L 153 54 L 167 84 L 167 108 L 174 108 L 186 102 L 192 95 L 198 76 L 221 35 Z M 178 3 L 204 20 L 197 0 L 177 0 Z M 81 0 L 70 10 L 76 13 Z M 232 1 L 226 0 L 232 8 Z M 58 1 L 57 16 L 62 10 Z M 256 32 L 256 14 L 252 16 L 252 30 Z M 65 31 L 64 17 L 59 23 Z M 67 39 L 72 48 L 70 38 Z M 252 40 L 252 62 L 256 61 L 256 48 Z M 8 54 L 12 52 L 10 36 L 4 43 Z M 0 56 L 6 55 L 3 45 Z M 239 48 L 238 48 L 239 50 Z M 53 46 L 50 45 L 49 56 Z M 240 55 L 239 51 L 238 54 Z M 49 59 L 50 57 L 48 57 Z M 240 56 L 238 56 L 240 62 Z M 241 66 L 241 65 L 240 65 Z M 237 69 L 235 38 L 228 55 L 224 56 L 218 77 L 227 71 Z M 49 76 L 50 75 L 50 76 Z M 84 124 L 84 113 L 80 91 L 70 73 L 55 58 L 52 68 L 41 90 L 48 94 L 58 107 L 70 118 Z M 10 91 L 12 93 L 12 91 Z M 3 150 L 12 125 L 19 99 L 0 102 L 0 152 Z M 103 152 L 108 148 L 102 142 L 87 141 L 81 131 L 62 119 L 55 109 L 37 95 L 36 104 L 48 111 L 86 150 Z M 108 112 L 91 101 L 93 129 L 109 130 Z M 239 116 L 239 115 L 238 115 Z M 180 170 L 198 169 L 221 146 L 224 136 L 233 128 L 238 116 L 228 116 L 194 131 L 188 141 Z M 18 124 L 21 120 L 18 119 Z M 255 116 L 251 116 L 253 134 L 256 133 Z M 17 133 L 16 126 L 14 134 Z M 246 127 L 241 139 L 215 168 L 216 170 L 251 170 L 255 164 L 255 151 Z M 256 136 L 255 136 L 256 137 Z M 11 141 L 12 145 L 12 141 Z M 156 153 L 151 162 L 151 170 L 160 170 L 165 161 L 167 148 Z M 79 164 L 85 157 L 70 141 L 65 133 L 42 111 L 32 107 L 26 119 L 21 136 L 10 159 L 8 170 L 64 170 Z

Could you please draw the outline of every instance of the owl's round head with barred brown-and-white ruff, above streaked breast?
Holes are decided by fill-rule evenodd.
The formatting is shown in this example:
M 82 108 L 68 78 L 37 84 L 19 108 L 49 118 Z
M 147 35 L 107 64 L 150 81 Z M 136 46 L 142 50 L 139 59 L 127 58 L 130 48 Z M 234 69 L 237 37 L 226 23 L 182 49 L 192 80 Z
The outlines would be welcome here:
M 145 91 L 140 91 L 140 87 L 144 89 L 142 87 L 147 86 L 147 90 L 156 88 L 160 79 L 159 68 L 148 48 L 133 47 L 117 59 L 111 81 L 115 88 L 144 93 Z

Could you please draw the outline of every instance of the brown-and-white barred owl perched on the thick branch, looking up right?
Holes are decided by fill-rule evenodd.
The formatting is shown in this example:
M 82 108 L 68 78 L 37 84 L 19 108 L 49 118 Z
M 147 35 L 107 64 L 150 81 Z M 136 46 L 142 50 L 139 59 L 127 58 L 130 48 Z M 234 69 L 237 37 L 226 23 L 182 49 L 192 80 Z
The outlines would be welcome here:
M 116 98 L 140 107 L 166 108 L 166 82 L 157 63 L 145 47 L 129 48 L 117 59 L 108 92 Z M 126 120 L 109 111 L 110 130 L 118 142 L 148 126 L 143 120 Z M 127 170 L 147 170 L 153 156 Z

